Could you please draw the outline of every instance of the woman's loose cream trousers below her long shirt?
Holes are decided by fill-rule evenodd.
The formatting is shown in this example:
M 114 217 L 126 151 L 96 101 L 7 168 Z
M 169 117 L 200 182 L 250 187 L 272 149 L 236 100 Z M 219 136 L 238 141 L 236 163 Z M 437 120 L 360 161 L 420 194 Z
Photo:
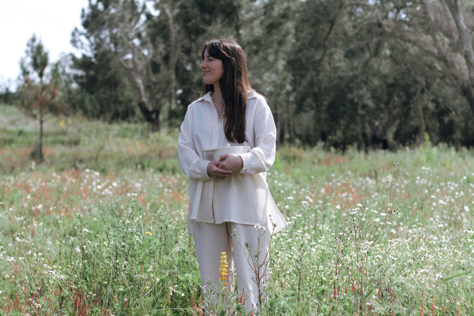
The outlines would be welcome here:
M 238 240 L 233 236 L 234 231 L 237 233 Z M 246 310 L 250 310 L 252 306 L 260 306 L 260 301 L 263 302 L 265 298 L 264 289 L 268 282 L 269 232 L 255 228 L 253 225 L 233 222 L 222 224 L 196 222 L 194 246 L 199 262 L 201 285 L 204 289 L 212 289 L 207 284 L 207 280 L 219 285 L 219 258 L 221 252 L 225 251 L 228 261 L 229 289 L 234 288 L 237 280 L 238 291 L 241 292 L 244 289 L 247 297 Z M 255 257 L 257 253 L 258 262 Z M 213 297 L 213 299 L 217 298 Z

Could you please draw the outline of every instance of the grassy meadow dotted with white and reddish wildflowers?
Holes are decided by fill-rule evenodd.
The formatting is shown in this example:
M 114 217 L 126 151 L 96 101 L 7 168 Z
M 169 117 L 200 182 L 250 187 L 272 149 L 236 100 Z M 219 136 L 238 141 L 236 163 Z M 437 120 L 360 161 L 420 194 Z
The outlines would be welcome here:
M 48 117 L 41 165 L 37 130 L 0 106 L 0 315 L 246 315 L 202 299 L 178 130 Z M 277 150 L 289 227 L 250 314 L 474 315 L 474 153 L 322 147 Z

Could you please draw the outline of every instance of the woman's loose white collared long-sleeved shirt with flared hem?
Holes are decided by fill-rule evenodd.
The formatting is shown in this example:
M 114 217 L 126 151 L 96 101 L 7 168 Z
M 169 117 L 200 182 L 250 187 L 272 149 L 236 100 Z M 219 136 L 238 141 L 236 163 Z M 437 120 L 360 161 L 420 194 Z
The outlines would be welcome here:
M 186 112 L 178 138 L 182 172 L 189 181 L 188 234 L 195 222 L 234 222 L 260 225 L 276 233 L 287 227 L 266 183 L 266 172 L 275 160 L 276 128 L 263 96 L 249 92 L 246 112 L 247 141 L 230 143 L 224 133 L 224 116 L 218 118 L 210 92 L 192 102 Z M 240 173 L 223 180 L 210 178 L 207 166 L 212 153 L 203 149 L 250 146 L 241 153 L 244 163 Z M 276 225 L 273 230 L 273 223 Z

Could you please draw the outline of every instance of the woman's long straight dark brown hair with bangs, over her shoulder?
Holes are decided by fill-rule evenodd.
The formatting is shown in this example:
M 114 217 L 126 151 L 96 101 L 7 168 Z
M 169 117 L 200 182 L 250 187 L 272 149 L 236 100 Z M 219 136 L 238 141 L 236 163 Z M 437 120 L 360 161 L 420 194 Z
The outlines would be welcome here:
M 224 73 L 219 81 L 224 106 L 224 132 L 229 142 L 243 143 L 246 137 L 246 110 L 247 91 L 250 87 L 247 78 L 247 63 L 244 51 L 237 42 L 228 38 L 213 39 L 201 45 L 201 57 L 208 50 L 211 57 L 220 59 L 224 66 Z M 204 84 L 202 95 L 209 91 L 214 92 L 214 85 Z

